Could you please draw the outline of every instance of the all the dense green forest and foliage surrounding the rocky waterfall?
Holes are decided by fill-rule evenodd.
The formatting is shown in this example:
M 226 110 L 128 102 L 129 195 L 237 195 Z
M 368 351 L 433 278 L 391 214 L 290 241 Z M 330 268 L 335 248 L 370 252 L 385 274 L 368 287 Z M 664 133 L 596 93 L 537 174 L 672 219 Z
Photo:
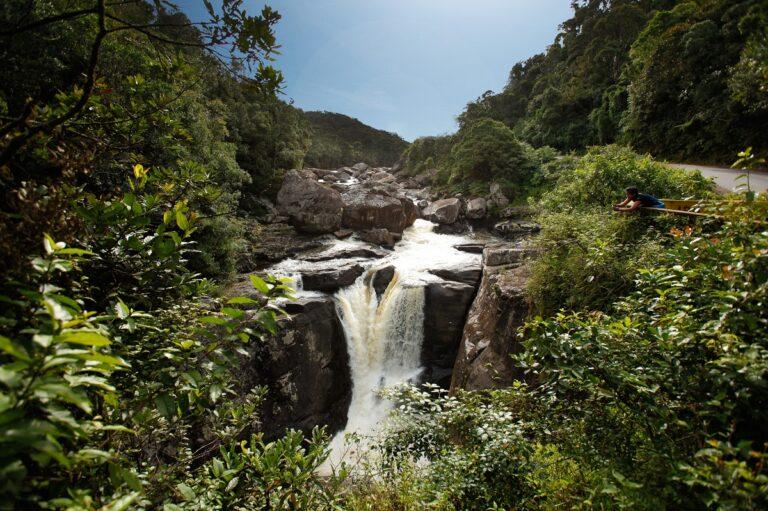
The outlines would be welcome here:
M 203 5 L 0 6 L 0 509 L 768 506 L 765 193 L 610 214 L 632 185 L 715 196 L 638 153 L 765 166 L 766 2 L 573 2 L 455 134 L 410 145 L 283 99 L 278 12 Z M 390 389 L 377 456 L 321 476 L 327 432 L 265 439 L 240 370 L 294 290 L 222 287 L 288 169 L 401 156 L 431 199 L 501 194 L 490 216 L 541 226 L 519 378 Z

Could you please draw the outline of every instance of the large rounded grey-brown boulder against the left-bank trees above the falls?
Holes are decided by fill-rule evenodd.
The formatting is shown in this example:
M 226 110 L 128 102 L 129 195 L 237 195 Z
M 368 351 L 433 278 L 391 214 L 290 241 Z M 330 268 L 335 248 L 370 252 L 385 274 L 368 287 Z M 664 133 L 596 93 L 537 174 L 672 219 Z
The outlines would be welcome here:
M 297 230 L 331 233 L 341 227 L 344 203 L 338 191 L 318 183 L 309 170 L 289 170 L 277 194 L 277 208 Z

